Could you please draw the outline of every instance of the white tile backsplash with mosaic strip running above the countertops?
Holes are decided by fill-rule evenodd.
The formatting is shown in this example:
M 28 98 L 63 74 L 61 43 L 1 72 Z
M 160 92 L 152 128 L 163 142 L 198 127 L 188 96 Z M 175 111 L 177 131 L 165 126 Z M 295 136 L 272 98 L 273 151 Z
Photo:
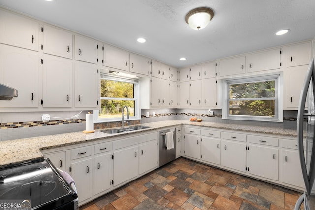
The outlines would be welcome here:
M 132 120 L 130 125 L 149 123 L 163 120 L 189 120 L 195 116 L 204 121 L 220 123 L 238 123 L 243 125 L 256 125 L 266 127 L 279 127 L 296 129 L 297 111 L 284 111 L 284 122 L 261 122 L 245 120 L 224 120 L 221 110 L 213 110 L 214 115 L 208 114 L 208 109 L 143 109 L 141 120 Z M 149 112 L 149 117 L 146 117 Z M 153 117 L 153 113 L 155 116 Z M 64 112 L 25 112 L 25 113 L 0 113 L 0 141 L 29 138 L 35 136 L 53 135 L 60 133 L 76 132 L 85 130 L 85 115 L 88 111 L 79 114 L 79 118 L 73 118 L 78 111 Z M 42 121 L 42 114 L 49 114 L 50 121 Z M 104 129 L 120 126 L 121 122 L 107 122 L 94 124 L 95 129 Z

